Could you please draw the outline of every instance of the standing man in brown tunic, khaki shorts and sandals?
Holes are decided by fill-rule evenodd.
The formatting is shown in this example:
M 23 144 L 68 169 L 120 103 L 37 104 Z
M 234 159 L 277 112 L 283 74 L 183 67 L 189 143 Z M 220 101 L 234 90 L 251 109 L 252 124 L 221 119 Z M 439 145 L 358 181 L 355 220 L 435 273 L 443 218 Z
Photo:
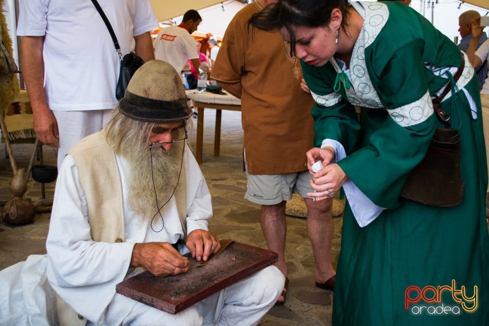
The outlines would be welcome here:
M 241 99 L 244 161 L 248 177 L 245 198 L 261 204 L 261 227 L 269 250 L 279 254 L 277 267 L 287 277 L 285 204 L 292 192 L 307 205 L 307 228 L 312 242 L 316 286 L 333 290 L 331 263 L 332 199 L 315 202 L 312 176 L 305 167 L 313 147 L 313 99 L 301 90 L 302 71 L 278 33 L 248 30 L 248 19 L 273 0 L 257 0 L 230 22 L 212 69 L 212 79 Z M 284 292 L 277 304 L 285 302 Z

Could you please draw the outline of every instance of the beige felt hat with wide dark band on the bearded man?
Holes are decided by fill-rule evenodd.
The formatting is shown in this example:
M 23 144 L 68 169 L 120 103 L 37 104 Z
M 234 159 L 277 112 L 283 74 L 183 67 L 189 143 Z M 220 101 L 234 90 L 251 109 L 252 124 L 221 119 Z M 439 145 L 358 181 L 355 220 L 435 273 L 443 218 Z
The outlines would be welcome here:
M 134 73 L 119 110 L 147 122 L 175 122 L 192 116 L 180 74 L 161 60 L 148 61 Z

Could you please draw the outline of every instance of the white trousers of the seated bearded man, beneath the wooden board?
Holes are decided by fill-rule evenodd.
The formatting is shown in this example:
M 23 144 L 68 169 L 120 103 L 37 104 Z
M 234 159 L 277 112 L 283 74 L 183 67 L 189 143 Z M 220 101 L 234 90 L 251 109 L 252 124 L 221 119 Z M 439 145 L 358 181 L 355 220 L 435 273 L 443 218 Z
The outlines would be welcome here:
M 205 298 L 175 315 L 136 303 L 116 294 L 105 313 L 104 325 L 256 325 L 275 305 L 284 288 L 285 277 L 275 266 Z M 130 311 L 128 307 L 133 307 Z M 129 308 L 130 309 L 130 308 Z M 124 317 L 125 316 L 125 317 Z M 88 323 L 88 325 L 95 325 Z

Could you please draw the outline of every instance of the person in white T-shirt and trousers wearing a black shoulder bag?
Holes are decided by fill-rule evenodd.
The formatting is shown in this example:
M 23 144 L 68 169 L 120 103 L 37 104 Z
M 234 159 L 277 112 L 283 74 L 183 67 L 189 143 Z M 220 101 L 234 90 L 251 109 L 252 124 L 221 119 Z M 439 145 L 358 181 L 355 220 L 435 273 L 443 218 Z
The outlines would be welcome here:
M 154 59 L 150 30 L 158 26 L 149 0 L 100 2 L 122 55 Z M 89 0 L 19 2 L 21 71 L 43 144 L 66 151 L 100 130 L 118 103 L 120 60 L 100 14 Z

